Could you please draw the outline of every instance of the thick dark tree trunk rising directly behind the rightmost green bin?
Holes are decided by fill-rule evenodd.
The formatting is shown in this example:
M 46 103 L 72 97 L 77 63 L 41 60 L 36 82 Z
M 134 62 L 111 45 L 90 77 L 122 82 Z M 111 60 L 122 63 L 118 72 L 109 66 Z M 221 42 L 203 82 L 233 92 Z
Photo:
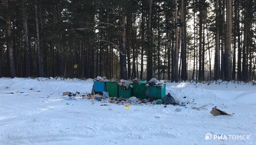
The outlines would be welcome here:
M 152 68 L 152 57 L 153 57 L 153 49 L 152 49 L 152 39 L 151 39 L 151 8 L 152 8 L 152 0 L 149 0 L 148 4 L 148 50 L 147 50 L 147 80 L 149 81 L 153 78 L 153 68 Z

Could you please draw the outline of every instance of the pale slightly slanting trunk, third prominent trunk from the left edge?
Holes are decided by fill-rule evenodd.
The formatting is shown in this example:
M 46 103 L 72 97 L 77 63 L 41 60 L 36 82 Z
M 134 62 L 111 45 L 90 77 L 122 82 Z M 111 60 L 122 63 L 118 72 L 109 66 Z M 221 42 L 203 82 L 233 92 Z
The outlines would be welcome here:
M 36 41 L 37 41 L 37 54 L 38 54 L 38 74 L 39 74 L 38 76 L 42 77 L 42 60 L 41 60 L 41 48 L 40 48 L 40 39 L 39 39 L 39 25 L 38 25 L 36 1 L 35 1 L 35 23 L 36 23 Z

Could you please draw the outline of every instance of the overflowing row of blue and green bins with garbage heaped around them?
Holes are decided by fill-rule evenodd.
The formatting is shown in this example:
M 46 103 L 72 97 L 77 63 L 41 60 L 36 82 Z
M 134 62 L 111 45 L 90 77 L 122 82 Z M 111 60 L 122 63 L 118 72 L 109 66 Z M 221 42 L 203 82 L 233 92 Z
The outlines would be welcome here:
M 160 87 L 152 89 L 160 92 L 160 97 L 150 97 L 159 95 L 158 92 L 150 92 L 150 87 Z M 151 95 L 150 95 L 151 94 Z M 164 94 L 164 95 L 162 95 Z M 150 81 L 141 81 L 140 78 L 134 80 L 118 80 L 112 78 L 107 80 L 106 77 L 94 78 L 94 86 L 92 93 L 72 93 L 63 92 L 63 96 L 68 96 L 66 100 L 87 99 L 92 102 L 103 101 L 106 103 L 113 103 L 117 105 L 147 105 L 147 104 L 171 104 L 180 105 L 175 102 L 175 99 L 168 93 L 165 95 L 165 83 L 151 78 Z M 162 95 L 162 96 L 161 96 Z M 181 104 L 181 106 L 186 106 Z M 166 107 L 166 106 L 165 106 Z

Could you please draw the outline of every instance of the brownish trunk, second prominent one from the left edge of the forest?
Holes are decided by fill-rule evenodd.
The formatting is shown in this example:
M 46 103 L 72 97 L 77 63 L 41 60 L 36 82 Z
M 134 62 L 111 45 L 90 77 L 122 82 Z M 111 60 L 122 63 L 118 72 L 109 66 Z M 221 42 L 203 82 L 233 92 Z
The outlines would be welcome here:
M 26 0 L 22 1 L 22 18 L 25 35 L 25 77 L 30 76 L 30 63 L 29 63 L 29 48 L 28 48 L 28 26 L 27 26 L 27 8 L 25 6 Z

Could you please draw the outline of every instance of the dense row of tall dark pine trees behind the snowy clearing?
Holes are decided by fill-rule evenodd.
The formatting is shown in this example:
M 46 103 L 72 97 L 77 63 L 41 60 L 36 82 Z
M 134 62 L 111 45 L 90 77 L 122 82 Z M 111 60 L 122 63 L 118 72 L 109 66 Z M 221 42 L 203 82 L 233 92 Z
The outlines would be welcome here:
M 0 77 L 255 80 L 255 7 L 255 0 L 1 0 Z

